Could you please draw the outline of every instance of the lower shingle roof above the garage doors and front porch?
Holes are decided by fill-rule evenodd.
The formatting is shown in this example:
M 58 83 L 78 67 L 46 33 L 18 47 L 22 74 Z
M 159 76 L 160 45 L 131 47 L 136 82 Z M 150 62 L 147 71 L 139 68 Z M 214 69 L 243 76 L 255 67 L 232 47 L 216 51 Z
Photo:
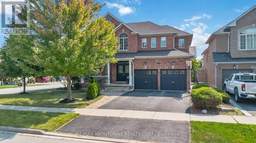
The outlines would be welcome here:
M 169 56 L 169 57 L 179 57 L 179 56 L 194 56 L 179 50 L 148 50 L 148 51 L 138 51 L 136 53 L 116 53 L 114 56 L 116 59 L 122 58 L 134 58 L 143 56 Z

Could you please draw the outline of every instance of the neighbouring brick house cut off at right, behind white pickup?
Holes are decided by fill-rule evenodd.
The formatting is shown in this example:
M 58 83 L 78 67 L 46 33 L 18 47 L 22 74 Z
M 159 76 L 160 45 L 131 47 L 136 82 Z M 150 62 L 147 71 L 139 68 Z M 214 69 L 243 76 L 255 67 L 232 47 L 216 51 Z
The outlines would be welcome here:
M 206 82 L 223 88 L 233 73 L 256 72 L 256 6 L 212 33 L 202 53 Z

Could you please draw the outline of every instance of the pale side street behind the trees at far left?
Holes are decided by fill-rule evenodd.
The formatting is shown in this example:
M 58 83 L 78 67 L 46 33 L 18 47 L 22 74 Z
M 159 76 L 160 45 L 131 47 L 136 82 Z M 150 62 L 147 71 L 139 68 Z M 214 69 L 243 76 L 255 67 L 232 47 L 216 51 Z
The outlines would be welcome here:
M 26 87 L 26 91 L 36 91 L 36 90 L 47 90 L 47 89 L 56 89 L 59 87 L 63 87 L 63 84 L 60 82 L 48 82 L 47 85 L 44 85 L 46 83 L 35 83 L 35 84 L 42 84 L 40 86 L 35 86 L 35 87 Z M 50 85 L 48 85 L 50 84 Z M 15 93 L 20 93 L 23 92 L 23 87 L 20 88 L 10 88 L 10 89 L 0 89 L 0 95 L 1 94 L 15 94 Z

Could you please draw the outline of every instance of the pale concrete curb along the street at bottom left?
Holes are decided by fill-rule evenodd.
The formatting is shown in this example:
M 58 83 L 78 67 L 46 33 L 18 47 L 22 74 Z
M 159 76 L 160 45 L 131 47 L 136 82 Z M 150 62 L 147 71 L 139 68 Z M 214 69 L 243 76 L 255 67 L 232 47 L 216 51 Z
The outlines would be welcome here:
M 92 143 L 98 142 L 116 142 L 116 143 L 145 143 L 145 142 L 152 142 L 152 141 L 140 141 L 140 140 L 133 140 L 133 139 L 118 139 L 118 138 L 108 138 L 108 137 L 96 137 L 96 136 L 79 136 L 76 134 L 67 134 L 67 133 L 60 133 L 60 132 L 47 132 L 43 130 L 35 130 L 35 129 L 26 129 L 26 128 L 15 128 L 15 127 L 6 127 L 0 126 L 0 133 L 3 132 L 12 132 L 12 133 L 24 133 L 24 134 L 32 134 L 30 136 L 52 136 L 52 137 L 60 137 L 61 139 L 69 138 L 71 140 L 79 141 L 79 139 L 88 140 Z M 153 142 L 152 142 L 153 143 Z

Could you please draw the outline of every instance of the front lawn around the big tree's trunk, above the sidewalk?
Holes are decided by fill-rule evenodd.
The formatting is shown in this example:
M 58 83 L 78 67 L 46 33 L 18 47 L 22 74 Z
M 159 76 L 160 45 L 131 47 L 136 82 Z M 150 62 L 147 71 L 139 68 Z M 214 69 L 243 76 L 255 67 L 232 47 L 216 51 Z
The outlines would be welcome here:
M 67 94 L 54 94 L 53 90 L 34 91 L 30 94 L 6 94 L 0 95 L 0 104 L 21 105 L 21 106 L 41 106 L 41 107 L 62 107 L 62 108 L 83 108 L 101 99 L 99 96 L 93 100 L 87 100 L 86 93 L 72 93 L 72 97 L 80 101 L 75 103 L 59 103 L 67 98 Z

